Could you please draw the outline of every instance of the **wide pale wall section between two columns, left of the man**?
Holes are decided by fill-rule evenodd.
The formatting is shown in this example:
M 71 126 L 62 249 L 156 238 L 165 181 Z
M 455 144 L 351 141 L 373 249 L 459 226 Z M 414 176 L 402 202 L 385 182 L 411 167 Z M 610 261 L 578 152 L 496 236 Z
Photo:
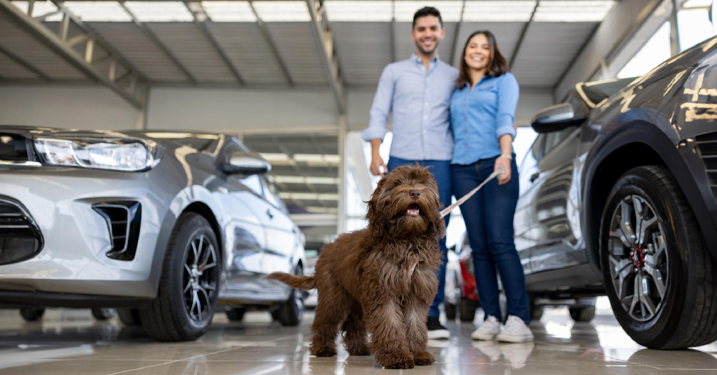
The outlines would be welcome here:
M 147 128 L 231 134 L 296 127 L 335 130 L 336 102 L 326 90 L 153 88 Z

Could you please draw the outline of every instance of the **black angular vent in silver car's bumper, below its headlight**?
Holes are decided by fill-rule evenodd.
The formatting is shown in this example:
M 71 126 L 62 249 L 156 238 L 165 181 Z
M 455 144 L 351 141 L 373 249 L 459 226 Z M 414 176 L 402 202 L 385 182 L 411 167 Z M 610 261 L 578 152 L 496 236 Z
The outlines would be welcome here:
M 142 205 L 139 202 L 107 202 L 92 205 L 107 222 L 112 248 L 109 258 L 133 260 L 137 252 Z

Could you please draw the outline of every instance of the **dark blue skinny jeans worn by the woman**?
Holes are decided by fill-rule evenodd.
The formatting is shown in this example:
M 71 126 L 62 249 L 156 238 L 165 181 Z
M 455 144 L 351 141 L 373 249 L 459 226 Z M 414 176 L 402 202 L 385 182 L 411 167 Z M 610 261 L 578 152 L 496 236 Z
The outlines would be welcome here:
M 456 199 L 480 185 L 493 173 L 496 157 L 478 160 L 471 165 L 451 165 L 451 182 Z M 498 185 L 498 178 L 485 184 L 473 197 L 460 205 L 465 228 L 473 249 L 473 270 L 478 286 L 478 299 L 489 315 L 501 319 L 498 302 L 498 278 L 500 273 L 508 315 L 530 322 L 530 307 L 526 291 L 526 277 L 513 242 L 513 216 L 518 204 L 518 166 L 515 155 L 511 162 L 511 180 Z

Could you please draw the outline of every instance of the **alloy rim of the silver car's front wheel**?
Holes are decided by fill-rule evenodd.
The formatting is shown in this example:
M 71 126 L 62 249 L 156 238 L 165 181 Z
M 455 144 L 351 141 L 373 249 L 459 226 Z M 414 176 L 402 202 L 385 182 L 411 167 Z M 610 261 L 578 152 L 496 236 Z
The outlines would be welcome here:
M 184 255 L 182 293 L 184 308 L 193 321 L 204 321 L 212 313 L 212 301 L 217 295 L 217 252 L 204 234 L 189 241 Z

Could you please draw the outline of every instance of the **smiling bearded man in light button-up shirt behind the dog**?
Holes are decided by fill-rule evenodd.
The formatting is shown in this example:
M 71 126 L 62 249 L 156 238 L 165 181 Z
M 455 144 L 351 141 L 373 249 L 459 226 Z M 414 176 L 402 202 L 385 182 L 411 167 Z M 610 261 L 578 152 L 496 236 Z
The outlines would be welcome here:
M 432 7 L 413 16 L 411 39 L 416 52 L 408 59 L 386 65 L 371 105 L 369 127 L 361 132 L 371 142 L 371 173 L 383 176 L 399 165 L 429 166 L 435 176 L 442 205 L 450 205 L 450 160 L 453 137 L 449 130 L 450 97 L 458 70 L 442 62 L 438 44 L 445 36 L 440 12 Z M 379 156 L 379 145 L 391 117 L 394 133 L 388 167 Z M 383 170 L 381 171 L 381 167 Z M 448 217 L 445 218 L 448 225 Z M 443 263 L 438 272 L 438 293 L 428 312 L 429 339 L 447 339 L 448 330 L 438 321 L 438 306 L 445 289 L 446 245 L 440 239 Z

